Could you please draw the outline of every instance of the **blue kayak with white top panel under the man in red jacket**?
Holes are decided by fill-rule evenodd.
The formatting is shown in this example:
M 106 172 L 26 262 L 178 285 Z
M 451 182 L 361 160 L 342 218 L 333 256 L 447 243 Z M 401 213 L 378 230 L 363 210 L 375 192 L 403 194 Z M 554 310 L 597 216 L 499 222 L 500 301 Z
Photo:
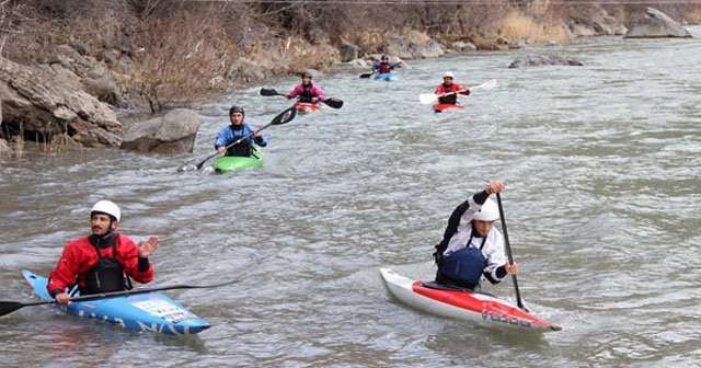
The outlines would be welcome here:
M 48 279 L 23 271 L 22 276 L 42 300 L 54 300 L 46 290 Z M 54 304 L 60 310 L 85 319 L 95 319 L 128 330 L 151 331 L 166 335 L 196 334 L 209 323 L 176 301 L 158 292 L 76 301 Z

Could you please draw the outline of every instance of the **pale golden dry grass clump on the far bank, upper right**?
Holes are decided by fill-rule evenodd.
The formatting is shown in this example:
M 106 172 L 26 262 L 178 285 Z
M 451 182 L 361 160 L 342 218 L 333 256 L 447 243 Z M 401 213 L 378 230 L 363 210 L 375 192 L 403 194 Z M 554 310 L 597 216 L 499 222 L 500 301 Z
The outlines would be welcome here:
M 530 39 L 536 43 L 571 41 L 570 32 L 562 23 L 538 22 L 519 11 L 510 11 L 502 20 L 498 34 L 509 41 Z

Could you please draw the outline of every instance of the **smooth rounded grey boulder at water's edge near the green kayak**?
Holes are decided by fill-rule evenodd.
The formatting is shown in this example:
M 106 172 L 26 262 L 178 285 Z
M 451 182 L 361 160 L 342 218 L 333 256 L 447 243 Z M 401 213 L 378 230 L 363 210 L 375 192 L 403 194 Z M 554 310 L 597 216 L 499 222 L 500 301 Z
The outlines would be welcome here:
M 120 148 L 139 152 L 192 152 L 199 124 L 202 119 L 194 111 L 175 108 L 163 116 L 129 125 Z

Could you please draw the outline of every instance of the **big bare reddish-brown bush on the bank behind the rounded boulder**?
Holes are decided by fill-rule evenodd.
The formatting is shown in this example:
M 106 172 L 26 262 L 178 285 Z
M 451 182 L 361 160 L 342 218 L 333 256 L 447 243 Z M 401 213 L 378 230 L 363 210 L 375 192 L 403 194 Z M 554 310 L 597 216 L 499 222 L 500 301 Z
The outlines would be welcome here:
M 203 94 L 225 90 L 220 77 L 239 50 L 218 22 L 209 12 L 185 9 L 147 19 L 136 41 L 143 50 L 137 55 L 138 67 L 126 89 L 143 95 L 151 112 L 184 106 Z

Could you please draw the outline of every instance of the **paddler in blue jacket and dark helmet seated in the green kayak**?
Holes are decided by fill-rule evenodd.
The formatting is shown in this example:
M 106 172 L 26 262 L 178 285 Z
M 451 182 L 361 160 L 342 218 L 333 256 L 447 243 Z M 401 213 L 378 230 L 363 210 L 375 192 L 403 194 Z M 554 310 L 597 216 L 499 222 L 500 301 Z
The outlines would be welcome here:
M 215 149 L 226 156 L 250 157 L 253 152 L 253 142 L 261 147 L 267 146 L 267 141 L 258 134 L 258 129 L 251 128 L 248 124 L 243 124 L 245 111 L 241 106 L 231 106 L 229 108 L 229 119 L 231 124 L 219 131 L 215 141 Z M 237 140 L 246 137 L 239 143 L 231 146 Z M 231 146 L 231 147 L 229 147 Z M 228 148 L 227 148 L 228 147 Z

